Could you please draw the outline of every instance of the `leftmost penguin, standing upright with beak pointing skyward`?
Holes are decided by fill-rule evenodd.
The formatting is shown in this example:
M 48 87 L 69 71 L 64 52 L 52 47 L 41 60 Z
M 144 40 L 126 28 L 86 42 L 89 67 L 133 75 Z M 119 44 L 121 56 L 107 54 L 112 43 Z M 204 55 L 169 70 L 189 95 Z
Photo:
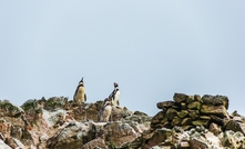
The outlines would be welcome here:
M 82 80 L 79 82 L 75 93 L 73 96 L 73 100 L 78 103 L 83 103 L 86 101 L 86 95 L 85 95 L 85 88 L 84 88 L 84 83 L 83 83 L 83 78 Z

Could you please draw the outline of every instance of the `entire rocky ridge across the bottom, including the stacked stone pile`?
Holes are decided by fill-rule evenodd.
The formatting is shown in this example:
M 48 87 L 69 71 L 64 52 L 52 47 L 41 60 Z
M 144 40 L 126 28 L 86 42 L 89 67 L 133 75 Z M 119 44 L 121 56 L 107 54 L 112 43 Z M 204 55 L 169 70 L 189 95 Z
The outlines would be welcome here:
M 27 149 L 243 149 L 245 119 L 228 113 L 225 96 L 175 93 L 149 117 L 113 107 L 98 122 L 103 101 L 75 103 L 65 97 L 31 99 L 21 107 L 0 100 L 0 148 Z

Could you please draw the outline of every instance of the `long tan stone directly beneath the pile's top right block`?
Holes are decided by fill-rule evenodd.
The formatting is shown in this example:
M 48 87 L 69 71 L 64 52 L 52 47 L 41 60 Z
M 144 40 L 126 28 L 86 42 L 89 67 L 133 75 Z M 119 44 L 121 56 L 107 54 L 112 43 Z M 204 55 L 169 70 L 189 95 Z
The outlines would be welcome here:
M 221 118 L 227 117 L 227 111 L 224 106 L 212 106 L 212 105 L 203 105 L 201 108 L 201 113 L 203 115 L 215 115 Z

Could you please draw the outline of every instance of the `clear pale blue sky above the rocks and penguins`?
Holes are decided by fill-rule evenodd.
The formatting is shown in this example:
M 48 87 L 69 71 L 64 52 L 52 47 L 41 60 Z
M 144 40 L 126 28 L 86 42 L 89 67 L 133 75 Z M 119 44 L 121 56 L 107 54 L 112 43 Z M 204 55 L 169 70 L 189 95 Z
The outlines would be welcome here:
M 245 1 L 0 1 L 0 99 L 88 102 L 118 82 L 121 106 L 154 116 L 175 92 L 223 95 L 245 116 Z

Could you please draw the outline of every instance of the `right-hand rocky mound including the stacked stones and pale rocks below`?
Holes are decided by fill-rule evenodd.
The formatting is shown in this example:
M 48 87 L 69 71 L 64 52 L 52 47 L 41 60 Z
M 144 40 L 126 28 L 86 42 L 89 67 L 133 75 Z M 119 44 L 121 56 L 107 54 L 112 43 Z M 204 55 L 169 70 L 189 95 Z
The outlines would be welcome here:
M 161 109 L 151 121 L 150 131 L 127 145 L 137 148 L 245 148 L 244 118 L 228 115 L 225 96 L 175 93 L 173 101 L 156 103 Z

